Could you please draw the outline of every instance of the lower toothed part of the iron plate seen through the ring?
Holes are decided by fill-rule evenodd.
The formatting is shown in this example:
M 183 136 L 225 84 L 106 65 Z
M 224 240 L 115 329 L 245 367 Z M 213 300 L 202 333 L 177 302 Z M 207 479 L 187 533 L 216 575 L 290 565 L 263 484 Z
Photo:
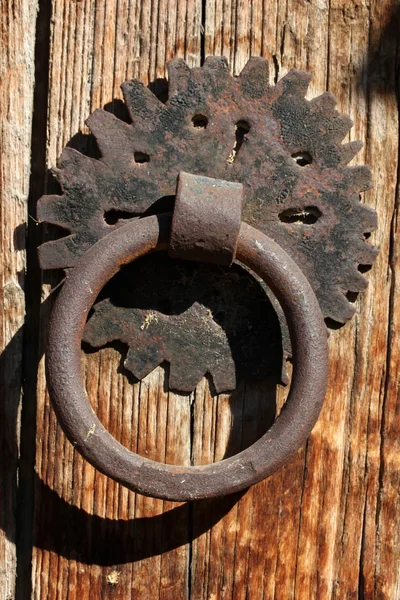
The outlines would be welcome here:
M 228 269 L 157 252 L 126 265 L 107 284 L 83 340 L 93 347 L 126 344 L 123 368 L 138 379 L 167 361 L 173 390 L 191 392 L 206 373 L 213 393 L 235 389 L 243 378 L 287 383 L 289 335 L 282 347 L 282 309 L 268 293 L 270 299 L 237 263 Z

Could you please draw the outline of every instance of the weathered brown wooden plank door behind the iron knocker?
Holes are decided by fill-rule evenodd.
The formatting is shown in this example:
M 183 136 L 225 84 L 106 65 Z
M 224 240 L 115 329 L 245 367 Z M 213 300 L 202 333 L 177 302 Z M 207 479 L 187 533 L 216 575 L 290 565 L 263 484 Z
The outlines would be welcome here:
M 400 598 L 398 0 L 2 0 L 0 599 L 306 600 Z M 224 55 L 252 55 L 271 83 L 313 74 L 354 121 L 370 164 L 379 246 L 356 316 L 331 331 L 330 385 L 307 444 L 246 493 L 176 504 L 135 495 L 74 452 L 50 407 L 44 340 L 60 281 L 42 274 L 35 220 L 48 169 L 85 119 L 118 110 L 119 85 Z M 110 105 L 111 103 L 111 105 Z M 85 357 L 96 411 L 148 457 L 201 464 L 266 426 L 268 381 L 212 396 L 141 383 L 106 348 Z M 281 394 L 281 392 L 279 392 Z M 282 395 L 282 394 L 281 394 Z M 171 427 L 171 423 L 174 427 Z M 263 429 L 264 428 L 264 429 Z

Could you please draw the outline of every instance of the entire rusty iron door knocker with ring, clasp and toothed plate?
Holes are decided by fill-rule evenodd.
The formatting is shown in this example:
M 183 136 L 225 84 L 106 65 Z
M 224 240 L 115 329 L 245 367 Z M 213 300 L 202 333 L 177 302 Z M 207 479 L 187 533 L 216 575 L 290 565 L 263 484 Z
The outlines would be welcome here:
M 305 99 L 307 73 L 292 70 L 270 86 L 264 59 L 250 59 L 232 77 L 219 57 L 194 69 L 174 60 L 168 73 L 166 103 L 139 81 L 122 85 L 131 123 L 104 110 L 89 117 L 100 158 L 66 148 L 54 170 L 63 193 L 42 197 L 37 214 L 69 231 L 39 249 L 43 269 L 69 270 L 46 357 L 64 432 L 128 488 L 187 501 L 261 481 L 307 439 L 327 387 L 325 321 L 345 323 L 354 314 L 347 294 L 367 286 L 359 267 L 375 260 L 367 236 L 377 223 L 359 198 L 370 187 L 369 168 L 347 166 L 361 144 L 341 143 L 352 122 L 329 93 Z M 249 448 L 214 464 L 167 465 L 129 451 L 102 426 L 84 389 L 82 339 L 94 347 L 128 344 L 125 364 L 139 379 L 166 360 L 176 389 L 192 390 L 206 372 L 216 391 L 235 387 L 232 345 L 240 336 L 221 337 L 215 311 L 201 312 L 192 298 L 179 321 L 179 311 L 157 305 L 147 328 L 140 306 L 99 299 L 122 265 L 150 254 L 156 260 L 163 250 L 171 263 L 229 267 L 236 259 L 272 291 L 290 334 L 293 377 L 280 415 Z M 222 301 L 229 312 L 232 303 Z

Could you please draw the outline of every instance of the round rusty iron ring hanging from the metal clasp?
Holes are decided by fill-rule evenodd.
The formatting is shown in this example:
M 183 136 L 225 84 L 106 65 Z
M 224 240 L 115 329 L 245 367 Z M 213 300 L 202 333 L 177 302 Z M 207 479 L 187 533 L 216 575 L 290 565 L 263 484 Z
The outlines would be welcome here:
M 245 489 L 279 469 L 305 442 L 318 418 L 328 373 L 327 333 L 306 277 L 275 242 L 242 223 L 237 259 L 271 287 L 285 312 L 293 345 L 289 397 L 272 427 L 252 446 L 218 463 L 182 467 L 143 458 L 101 424 L 87 397 L 81 339 L 89 310 L 105 283 L 129 263 L 168 246 L 171 215 L 128 223 L 82 256 L 55 302 L 46 374 L 53 407 L 68 439 L 96 469 L 147 496 L 176 501 Z

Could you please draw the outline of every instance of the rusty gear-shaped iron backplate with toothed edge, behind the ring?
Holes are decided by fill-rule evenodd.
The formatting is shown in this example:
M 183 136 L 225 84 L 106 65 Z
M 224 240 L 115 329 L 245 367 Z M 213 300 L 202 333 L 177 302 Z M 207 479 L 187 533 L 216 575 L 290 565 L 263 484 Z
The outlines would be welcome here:
M 302 269 L 325 319 L 345 323 L 354 314 L 353 293 L 366 288 L 362 272 L 377 254 L 367 239 L 376 229 L 376 213 L 360 202 L 370 172 L 348 166 L 361 143 L 342 144 L 349 117 L 335 110 L 330 93 L 305 98 L 307 73 L 292 70 L 270 85 L 268 63 L 261 58 L 250 59 L 239 77 L 230 75 L 220 57 L 194 69 L 174 60 L 168 73 L 165 104 L 141 82 L 129 81 L 122 90 L 132 122 L 104 110 L 89 117 L 100 158 L 64 150 L 54 170 L 62 194 L 44 196 L 37 216 L 68 234 L 41 246 L 42 267 L 69 269 L 127 219 L 138 222 L 172 210 L 184 171 L 242 185 L 243 221 L 278 243 Z M 271 294 L 283 331 L 281 348 L 274 351 L 276 338 L 257 330 L 256 313 L 264 311 L 258 322 L 262 327 L 268 322 L 271 331 L 277 318 L 268 289 L 243 269 L 220 271 L 218 279 L 211 265 L 171 267 L 161 255 L 150 267 L 144 258 L 126 269 L 129 276 L 125 272 L 118 280 L 123 285 L 114 280 L 103 290 L 83 337 L 94 347 L 124 341 L 125 366 L 138 378 L 168 354 L 171 385 L 188 391 L 208 371 L 216 390 L 223 391 L 233 389 L 237 377 L 276 372 L 274 357 L 282 349 L 290 354 L 287 325 Z M 160 297 L 166 277 L 171 285 L 163 286 Z M 250 285 L 255 295 L 246 292 Z M 149 315 L 154 318 L 147 327 Z M 191 349 L 184 369 L 182 345 Z

